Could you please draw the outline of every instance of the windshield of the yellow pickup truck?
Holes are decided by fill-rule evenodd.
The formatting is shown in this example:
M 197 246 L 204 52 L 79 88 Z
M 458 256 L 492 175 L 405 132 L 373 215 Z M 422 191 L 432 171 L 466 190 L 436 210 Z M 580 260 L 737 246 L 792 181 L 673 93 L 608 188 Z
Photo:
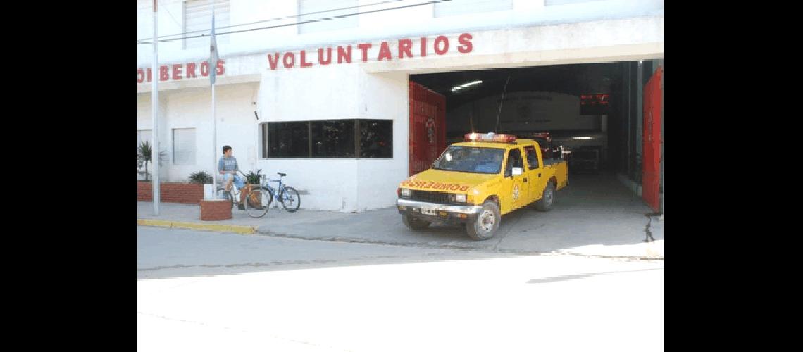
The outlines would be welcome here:
M 499 173 L 504 149 L 451 145 L 432 168 L 446 171 Z

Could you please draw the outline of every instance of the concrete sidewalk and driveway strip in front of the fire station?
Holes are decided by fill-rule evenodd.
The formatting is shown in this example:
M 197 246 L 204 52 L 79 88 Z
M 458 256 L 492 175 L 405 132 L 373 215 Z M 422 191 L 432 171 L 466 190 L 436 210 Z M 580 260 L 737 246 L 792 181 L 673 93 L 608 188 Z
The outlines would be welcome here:
M 650 208 L 638 198 L 621 196 L 626 192 L 589 195 L 585 194 L 588 189 L 593 188 L 559 192 L 551 212 L 522 208 L 503 216 L 499 232 L 488 241 L 471 240 L 463 227 L 433 225 L 424 231 L 411 231 L 402 224 L 395 207 L 357 213 L 271 208 L 256 219 L 233 209 L 230 220 L 201 221 L 198 204 L 161 203 L 160 216 L 153 216 L 151 202 L 137 202 L 137 224 L 320 241 L 663 259 L 663 222 L 658 216 L 646 215 Z M 589 201 L 594 197 L 607 198 L 597 204 Z M 644 242 L 648 233 L 654 241 Z

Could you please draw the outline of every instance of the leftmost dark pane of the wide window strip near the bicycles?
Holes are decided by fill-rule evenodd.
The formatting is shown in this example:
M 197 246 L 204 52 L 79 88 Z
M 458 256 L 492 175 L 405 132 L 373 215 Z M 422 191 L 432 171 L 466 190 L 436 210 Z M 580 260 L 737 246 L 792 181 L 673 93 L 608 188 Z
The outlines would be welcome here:
M 267 146 L 269 158 L 308 158 L 309 123 L 268 123 Z

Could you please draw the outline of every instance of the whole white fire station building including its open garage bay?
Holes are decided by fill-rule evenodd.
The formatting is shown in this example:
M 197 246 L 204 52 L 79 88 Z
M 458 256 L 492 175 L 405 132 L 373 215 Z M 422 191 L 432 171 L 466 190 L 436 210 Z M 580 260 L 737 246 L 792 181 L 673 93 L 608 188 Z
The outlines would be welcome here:
M 243 172 L 287 173 L 301 208 L 361 212 L 393 206 L 447 143 L 496 128 L 597 138 L 634 192 L 645 164 L 662 187 L 642 133 L 662 124 L 662 103 L 644 112 L 662 1 L 214 0 L 210 67 L 212 2 L 158 2 L 156 69 L 153 1 L 137 3 L 137 142 L 153 140 L 158 79 L 162 181 L 215 172 L 227 144 Z

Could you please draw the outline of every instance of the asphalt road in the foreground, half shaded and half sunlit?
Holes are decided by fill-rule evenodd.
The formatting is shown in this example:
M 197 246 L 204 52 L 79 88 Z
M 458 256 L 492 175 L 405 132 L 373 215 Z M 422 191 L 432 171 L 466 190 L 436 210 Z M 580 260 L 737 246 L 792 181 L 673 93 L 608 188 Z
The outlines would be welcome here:
M 137 348 L 663 350 L 663 261 L 139 227 Z

